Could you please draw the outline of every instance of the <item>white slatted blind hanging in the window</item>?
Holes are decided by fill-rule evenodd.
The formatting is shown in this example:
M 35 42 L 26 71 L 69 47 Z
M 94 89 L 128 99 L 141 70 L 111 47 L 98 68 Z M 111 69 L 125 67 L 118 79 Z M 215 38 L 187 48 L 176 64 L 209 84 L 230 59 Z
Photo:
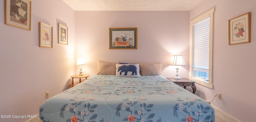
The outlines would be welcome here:
M 210 16 L 203 18 L 193 26 L 194 60 L 193 70 L 208 72 L 210 46 Z

